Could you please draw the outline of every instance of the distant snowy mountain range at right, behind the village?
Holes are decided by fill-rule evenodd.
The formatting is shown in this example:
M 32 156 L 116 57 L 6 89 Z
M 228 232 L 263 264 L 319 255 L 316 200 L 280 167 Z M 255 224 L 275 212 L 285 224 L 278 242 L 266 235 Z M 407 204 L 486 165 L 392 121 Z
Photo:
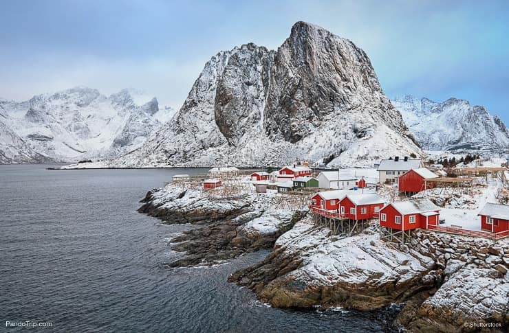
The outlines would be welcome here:
M 433 102 L 404 95 L 393 100 L 411 132 L 427 150 L 509 150 L 509 130 L 484 106 L 450 98 Z

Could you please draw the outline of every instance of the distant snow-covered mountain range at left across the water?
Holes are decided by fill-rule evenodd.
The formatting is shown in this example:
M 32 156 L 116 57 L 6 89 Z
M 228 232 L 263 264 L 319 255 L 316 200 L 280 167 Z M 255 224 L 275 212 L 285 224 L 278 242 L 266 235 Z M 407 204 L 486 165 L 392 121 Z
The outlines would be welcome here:
M 76 87 L 25 102 L 0 100 L 0 163 L 113 158 L 138 148 L 171 108 L 124 89 L 109 97 Z

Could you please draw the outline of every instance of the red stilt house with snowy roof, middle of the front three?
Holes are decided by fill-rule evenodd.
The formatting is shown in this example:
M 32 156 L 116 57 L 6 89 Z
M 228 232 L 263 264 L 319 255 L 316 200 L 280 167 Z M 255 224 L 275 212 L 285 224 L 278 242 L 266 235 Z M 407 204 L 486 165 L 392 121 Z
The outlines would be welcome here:
M 339 211 L 350 220 L 368 220 L 378 217 L 384 204 L 378 194 L 347 194 L 339 202 Z

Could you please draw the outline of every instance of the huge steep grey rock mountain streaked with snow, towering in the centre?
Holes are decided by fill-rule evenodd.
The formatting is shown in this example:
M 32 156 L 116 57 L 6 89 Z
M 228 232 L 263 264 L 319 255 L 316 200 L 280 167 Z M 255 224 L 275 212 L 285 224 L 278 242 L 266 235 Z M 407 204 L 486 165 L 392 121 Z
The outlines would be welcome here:
M 117 167 L 369 165 L 422 154 L 362 49 L 298 22 L 276 51 L 252 43 L 208 61 L 171 122 Z

